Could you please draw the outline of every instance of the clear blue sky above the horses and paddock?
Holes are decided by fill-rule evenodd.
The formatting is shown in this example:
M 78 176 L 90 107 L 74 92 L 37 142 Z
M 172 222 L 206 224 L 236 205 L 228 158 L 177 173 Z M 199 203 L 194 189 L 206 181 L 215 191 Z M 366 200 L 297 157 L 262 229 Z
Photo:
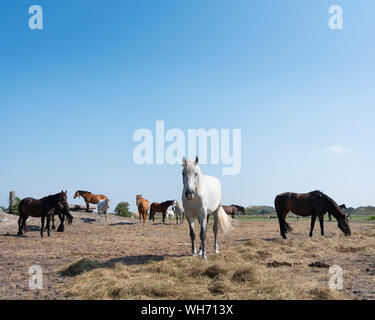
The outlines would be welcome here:
M 29 6 L 44 29 L 28 28 Z M 328 28 L 328 8 L 344 29 Z M 76 189 L 179 198 L 179 165 L 139 166 L 138 128 L 240 128 L 224 203 L 321 189 L 375 204 L 372 0 L 64 0 L 0 4 L 0 205 Z M 333 147 L 338 146 L 338 147 Z M 331 148 L 333 147 L 333 148 Z M 331 148 L 331 149 L 329 149 Z

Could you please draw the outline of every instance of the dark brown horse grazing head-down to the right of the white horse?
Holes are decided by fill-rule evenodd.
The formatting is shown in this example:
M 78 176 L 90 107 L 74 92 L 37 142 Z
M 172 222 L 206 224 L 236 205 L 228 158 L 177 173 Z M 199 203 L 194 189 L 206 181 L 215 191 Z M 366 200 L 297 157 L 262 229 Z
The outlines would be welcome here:
M 323 217 L 327 211 L 336 218 L 338 227 L 346 236 L 351 234 L 348 218 L 345 216 L 344 212 L 335 201 L 321 191 L 312 191 L 309 193 L 286 192 L 279 194 L 275 198 L 275 208 L 279 218 L 280 233 L 284 239 L 286 239 L 285 234 L 293 230 L 285 221 L 289 211 L 302 217 L 311 216 L 310 237 L 312 237 L 317 217 L 319 217 L 321 234 L 324 236 Z

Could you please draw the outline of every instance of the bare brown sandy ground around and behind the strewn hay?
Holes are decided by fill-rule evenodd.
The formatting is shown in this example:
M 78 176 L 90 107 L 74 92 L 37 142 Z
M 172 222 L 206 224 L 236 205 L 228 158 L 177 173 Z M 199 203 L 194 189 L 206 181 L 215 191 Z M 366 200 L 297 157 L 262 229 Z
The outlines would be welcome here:
M 149 222 L 138 226 L 138 221 L 109 215 L 108 223 L 98 221 L 96 214 L 72 213 L 74 221 L 66 226 L 64 233 L 52 231 L 51 237 L 41 238 L 40 219 L 29 218 L 30 232 L 25 237 L 17 237 L 17 216 L 0 213 L 0 299 L 66 299 L 61 290 L 62 284 L 74 281 L 74 277 L 64 277 L 59 272 L 64 266 L 82 258 L 102 262 L 120 262 L 134 266 L 149 260 L 166 260 L 173 257 L 190 255 L 190 238 L 188 225 L 176 226 L 174 221 L 165 225 L 161 222 Z M 58 219 L 57 219 L 58 221 Z M 288 241 L 303 244 L 308 239 L 309 222 L 290 219 L 294 228 L 288 235 Z M 208 259 L 213 254 L 212 221 L 209 223 Z M 58 225 L 58 224 L 57 224 Z M 336 223 L 326 223 L 326 238 L 336 245 L 337 251 L 324 250 L 290 253 L 294 262 L 300 258 L 307 261 L 323 261 L 329 265 L 340 265 L 344 270 L 344 290 L 353 299 L 375 299 L 375 235 L 374 223 L 352 223 L 353 236 L 342 236 Z M 324 241 L 317 224 L 314 239 L 321 244 Z M 366 234 L 366 237 L 362 234 Z M 219 238 L 220 250 L 235 247 L 248 240 L 262 240 L 264 243 L 280 243 L 279 225 L 276 220 L 241 221 L 225 237 Z M 333 240 L 332 240 L 333 239 Z M 284 240 L 282 240 L 284 241 Z M 305 240 L 306 241 L 306 240 Z M 327 240 L 328 241 L 328 240 Z M 350 245 L 347 246 L 350 242 Z M 331 245 L 332 247 L 332 245 Z M 261 248 L 259 248 L 261 250 Z M 291 250 L 292 252 L 293 250 Z M 265 261 L 266 263 L 272 262 Z M 43 290 L 29 290 L 30 266 L 40 265 L 43 269 Z M 327 269 L 304 268 L 303 276 L 307 279 L 314 272 L 324 275 Z M 295 274 L 293 274 L 295 273 Z M 298 266 L 285 271 L 285 276 L 301 276 Z

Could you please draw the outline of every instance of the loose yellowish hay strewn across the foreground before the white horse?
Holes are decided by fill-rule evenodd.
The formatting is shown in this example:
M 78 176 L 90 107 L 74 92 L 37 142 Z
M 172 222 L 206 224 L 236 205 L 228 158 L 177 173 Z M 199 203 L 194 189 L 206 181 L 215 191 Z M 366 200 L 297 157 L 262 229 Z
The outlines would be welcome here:
M 137 266 L 100 266 L 81 260 L 63 269 L 84 271 L 65 292 L 81 299 L 350 299 L 344 291 L 328 288 L 330 275 L 318 252 L 352 253 L 343 250 L 350 245 L 337 243 L 355 238 L 250 240 L 208 261 L 181 257 Z M 320 264 L 309 267 L 315 262 Z M 98 268 L 92 270 L 95 265 Z

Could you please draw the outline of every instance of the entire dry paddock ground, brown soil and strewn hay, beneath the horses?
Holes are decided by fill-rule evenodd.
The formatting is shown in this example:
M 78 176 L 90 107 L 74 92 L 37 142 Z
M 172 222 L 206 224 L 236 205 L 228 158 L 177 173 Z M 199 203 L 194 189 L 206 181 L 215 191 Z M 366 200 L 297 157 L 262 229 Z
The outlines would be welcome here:
M 219 237 L 212 224 L 208 261 L 190 257 L 188 226 L 76 214 L 72 226 L 41 239 L 39 221 L 17 238 L 16 220 L 0 224 L 0 295 L 7 299 L 375 299 L 375 224 L 353 223 L 344 237 L 326 223 L 326 237 L 309 222 L 291 221 L 283 240 L 277 221 L 241 221 Z M 28 267 L 43 268 L 45 289 L 27 289 Z M 312 265 L 310 267 L 309 265 Z M 344 290 L 328 289 L 327 266 L 343 269 Z M 64 267 L 65 266 L 65 267 Z

